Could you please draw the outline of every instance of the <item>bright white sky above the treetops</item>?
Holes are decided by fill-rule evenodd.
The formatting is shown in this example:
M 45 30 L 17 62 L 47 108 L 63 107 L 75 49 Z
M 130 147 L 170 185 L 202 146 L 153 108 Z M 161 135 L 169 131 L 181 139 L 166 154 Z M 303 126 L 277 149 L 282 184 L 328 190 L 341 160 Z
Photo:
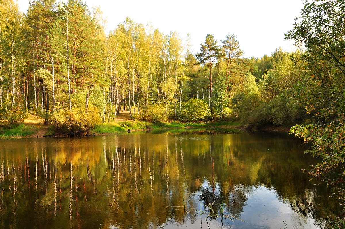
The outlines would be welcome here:
M 65 0 L 67 1 L 67 0 Z M 147 25 L 165 34 L 177 31 L 185 39 L 191 34 L 193 53 L 200 52 L 200 43 L 207 34 L 220 44 L 228 34 L 237 34 L 244 57 L 261 58 L 276 48 L 294 50 L 294 42 L 284 41 L 284 33 L 292 29 L 304 0 L 84 0 L 89 9 L 100 6 L 113 30 L 125 20 Z M 28 0 L 18 0 L 20 11 L 27 12 Z

